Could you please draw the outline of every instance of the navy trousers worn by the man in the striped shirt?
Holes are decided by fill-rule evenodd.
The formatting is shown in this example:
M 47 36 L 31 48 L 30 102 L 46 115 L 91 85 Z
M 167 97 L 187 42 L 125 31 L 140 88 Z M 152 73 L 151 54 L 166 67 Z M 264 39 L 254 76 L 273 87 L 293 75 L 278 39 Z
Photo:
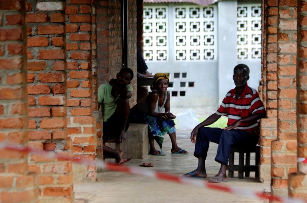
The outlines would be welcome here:
M 199 128 L 194 156 L 198 158 L 201 155 L 204 159 L 207 158 L 209 143 L 218 144 L 218 151 L 215 161 L 218 163 L 228 164 L 229 152 L 231 146 L 249 147 L 256 146 L 259 136 L 248 133 L 244 130 L 223 130 L 221 128 Z

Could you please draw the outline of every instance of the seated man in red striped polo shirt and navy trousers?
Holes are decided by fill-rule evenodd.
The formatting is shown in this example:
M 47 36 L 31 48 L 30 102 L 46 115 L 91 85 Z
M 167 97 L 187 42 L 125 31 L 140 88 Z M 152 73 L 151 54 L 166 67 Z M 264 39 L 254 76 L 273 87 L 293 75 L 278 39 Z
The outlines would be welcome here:
M 234 67 L 233 80 L 235 88 L 230 90 L 218 110 L 191 132 L 191 141 L 195 143 L 194 156 L 198 158 L 197 169 L 182 177 L 206 178 L 205 160 L 209 142 L 218 143 L 215 161 L 221 168 L 209 182 L 228 181 L 226 169 L 231 146 L 255 146 L 259 140 L 259 121 L 266 116 L 266 110 L 258 92 L 247 85 L 250 78 L 247 65 Z M 216 122 L 221 116 L 228 117 L 226 128 L 204 127 Z

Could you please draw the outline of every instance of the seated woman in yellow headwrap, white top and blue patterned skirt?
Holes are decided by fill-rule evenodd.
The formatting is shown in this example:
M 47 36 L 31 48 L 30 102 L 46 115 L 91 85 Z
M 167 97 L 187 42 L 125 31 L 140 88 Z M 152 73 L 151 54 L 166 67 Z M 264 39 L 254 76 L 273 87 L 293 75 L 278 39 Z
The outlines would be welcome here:
M 162 151 L 163 135 L 169 134 L 172 142 L 172 154 L 188 154 L 178 147 L 176 142 L 176 116 L 170 112 L 170 92 L 167 91 L 169 76 L 166 73 L 156 73 L 148 96 L 141 99 L 130 112 L 130 121 L 146 123 L 149 128 L 149 155 L 165 155 Z M 159 144 L 160 151 L 154 147 L 153 140 Z

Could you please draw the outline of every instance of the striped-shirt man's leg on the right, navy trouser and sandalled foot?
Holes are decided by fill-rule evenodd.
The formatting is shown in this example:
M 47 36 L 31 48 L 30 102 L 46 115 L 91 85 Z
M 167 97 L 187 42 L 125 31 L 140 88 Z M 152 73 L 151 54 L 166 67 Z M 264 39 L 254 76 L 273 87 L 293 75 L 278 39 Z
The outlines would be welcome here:
M 209 181 L 227 181 L 226 169 L 231 146 L 255 146 L 258 143 L 258 138 L 258 136 L 247 133 L 243 130 L 223 130 L 220 141 L 218 143 L 217 155 L 215 157 L 215 161 L 221 163 L 221 167 L 218 174 L 216 174 Z

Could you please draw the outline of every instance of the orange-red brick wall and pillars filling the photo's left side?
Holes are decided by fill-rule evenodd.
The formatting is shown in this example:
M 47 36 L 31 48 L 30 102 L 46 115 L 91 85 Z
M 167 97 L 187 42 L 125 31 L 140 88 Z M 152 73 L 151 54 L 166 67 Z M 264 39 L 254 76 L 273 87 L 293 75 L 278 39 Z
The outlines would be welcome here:
M 128 7 L 128 65 L 136 72 L 136 1 Z M 98 85 L 122 67 L 121 42 L 119 0 L 0 0 L 0 141 L 101 159 L 93 110 Z M 131 106 L 136 77 L 132 86 Z M 0 201 L 73 202 L 73 168 L 74 177 L 95 180 L 94 167 L 1 150 Z

